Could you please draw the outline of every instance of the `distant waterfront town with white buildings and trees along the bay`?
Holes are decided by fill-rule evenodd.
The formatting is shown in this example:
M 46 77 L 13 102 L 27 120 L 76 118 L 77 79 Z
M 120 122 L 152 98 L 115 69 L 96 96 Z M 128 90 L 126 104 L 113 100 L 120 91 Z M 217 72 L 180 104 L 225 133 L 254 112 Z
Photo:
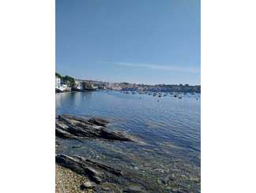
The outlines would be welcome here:
M 96 80 L 80 80 L 71 76 L 62 76 L 55 73 L 55 91 L 99 91 L 114 90 L 124 91 L 126 94 L 145 93 L 145 92 L 183 92 L 201 93 L 201 86 L 191 86 L 189 84 L 130 84 L 130 83 L 110 83 Z M 152 94 L 154 95 L 154 94 Z

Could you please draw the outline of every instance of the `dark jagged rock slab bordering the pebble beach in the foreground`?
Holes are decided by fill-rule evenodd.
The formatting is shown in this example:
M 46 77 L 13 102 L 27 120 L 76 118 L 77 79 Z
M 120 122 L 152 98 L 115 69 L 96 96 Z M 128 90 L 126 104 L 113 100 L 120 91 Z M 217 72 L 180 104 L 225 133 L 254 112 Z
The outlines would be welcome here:
M 66 154 L 57 154 L 55 161 L 58 165 L 62 165 L 81 176 L 87 176 L 96 184 L 100 184 L 102 179 L 106 179 L 111 175 L 122 176 L 122 170 L 114 169 L 110 166 L 100 164 L 79 156 L 68 156 Z

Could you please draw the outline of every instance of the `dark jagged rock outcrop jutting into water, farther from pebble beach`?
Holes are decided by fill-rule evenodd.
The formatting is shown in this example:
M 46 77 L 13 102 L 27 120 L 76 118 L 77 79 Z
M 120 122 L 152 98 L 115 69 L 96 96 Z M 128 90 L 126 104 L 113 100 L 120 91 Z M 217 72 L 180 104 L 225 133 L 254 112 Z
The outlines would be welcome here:
M 99 118 L 85 120 L 70 114 L 58 115 L 55 119 L 55 134 L 67 139 L 108 139 L 119 141 L 132 141 L 128 136 L 120 132 L 107 131 L 108 121 Z

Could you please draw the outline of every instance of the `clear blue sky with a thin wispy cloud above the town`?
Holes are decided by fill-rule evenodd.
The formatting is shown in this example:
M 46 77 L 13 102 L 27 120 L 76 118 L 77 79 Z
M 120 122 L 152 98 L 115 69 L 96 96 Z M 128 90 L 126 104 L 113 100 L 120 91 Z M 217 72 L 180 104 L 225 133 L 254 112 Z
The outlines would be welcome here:
M 200 84 L 200 0 L 56 0 L 56 71 Z

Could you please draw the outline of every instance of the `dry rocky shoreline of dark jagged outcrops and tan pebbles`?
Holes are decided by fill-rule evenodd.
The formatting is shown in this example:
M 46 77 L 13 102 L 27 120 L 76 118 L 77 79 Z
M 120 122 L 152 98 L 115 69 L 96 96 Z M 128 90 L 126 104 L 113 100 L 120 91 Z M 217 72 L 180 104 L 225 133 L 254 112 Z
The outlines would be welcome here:
M 124 133 L 109 131 L 107 124 L 108 121 L 100 118 L 86 120 L 70 114 L 58 115 L 55 119 L 56 151 L 58 148 L 62 148 L 58 144 L 58 139 L 100 139 L 108 142 L 135 142 L 131 136 Z M 58 193 L 147 192 L 145 187 L 136 184 L 136 180 L 131 180 L 130 176 L 124 174 L 121 169 L 115 169 L 88 158 L 56 154 L 55 163 L 56 192 Z M 69 179 L 69 183 L 63 185 L 66 183 L 66 179 Z

